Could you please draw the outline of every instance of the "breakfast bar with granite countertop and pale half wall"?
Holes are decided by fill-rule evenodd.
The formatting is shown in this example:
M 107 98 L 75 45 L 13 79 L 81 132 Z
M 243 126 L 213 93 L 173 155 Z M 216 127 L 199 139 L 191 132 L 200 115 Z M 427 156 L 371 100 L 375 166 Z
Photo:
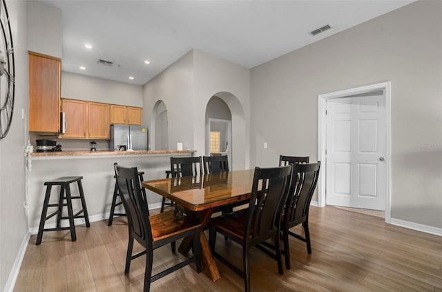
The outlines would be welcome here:
M 24 207 L 28 213 L 31 234 L 36 234 L 44 202 L 44 182 L 58 177 L 81 175 L 88 215 L 91 222 L 108 217 L 115 186 L 113 164 L 137 166 L 144 171 L 144 179 L 162 179 L 170 169 L 170 157 L 193 156 L 195 150 L 146 151 L 61 151 L 29 153 L 27 158 L 27 195 Z M 73 190 L 75 193 L 77 190 Z M 160 208 L 160 195 L 147 192 L 149 208 Z M 119 206 L 122 207 L 122 206 Z M 73 206 L 77 208 L 77 206 Z M 82 224 L 84 220 L 75 220 Z M 47 223 L 55 224 L 55 218 Z

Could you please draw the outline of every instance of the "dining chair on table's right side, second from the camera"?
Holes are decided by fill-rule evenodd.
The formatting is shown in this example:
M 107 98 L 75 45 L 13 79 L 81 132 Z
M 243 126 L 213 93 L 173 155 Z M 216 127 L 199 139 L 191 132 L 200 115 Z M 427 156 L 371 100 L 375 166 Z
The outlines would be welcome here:
M 293 166 L 289 195 L 281 221 L 281 231 L 284 239 L 282 253 L 285 255 L 285 267 L 287 269 L 290 269 L 289 235 L 305 242 L 307 252 L 311 254 L 309 207 L 318 182 L 319 168 L 320 162 L 311 164 L 295 163 Z M 299 224 L 302 224 L 304 228 L 305 237 L 290 231 L 290 228 Z

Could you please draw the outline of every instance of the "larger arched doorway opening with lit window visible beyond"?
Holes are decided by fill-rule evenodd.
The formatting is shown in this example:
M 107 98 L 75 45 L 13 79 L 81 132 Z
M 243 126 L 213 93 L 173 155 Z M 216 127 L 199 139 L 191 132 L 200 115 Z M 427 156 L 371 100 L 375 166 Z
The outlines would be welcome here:
M 206 155 L 228 155 L 232 166 L 232 115 L 229 106 L 215 95 L 206 106 Z

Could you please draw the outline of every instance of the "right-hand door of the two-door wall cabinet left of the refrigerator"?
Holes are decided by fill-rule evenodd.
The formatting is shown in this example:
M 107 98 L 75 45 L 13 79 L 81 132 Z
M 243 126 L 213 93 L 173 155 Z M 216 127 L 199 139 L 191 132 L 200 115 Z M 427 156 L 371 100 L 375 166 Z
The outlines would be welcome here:
M 88 109 L 88 138 L 110 139 L 109 105 L 89 102 Z

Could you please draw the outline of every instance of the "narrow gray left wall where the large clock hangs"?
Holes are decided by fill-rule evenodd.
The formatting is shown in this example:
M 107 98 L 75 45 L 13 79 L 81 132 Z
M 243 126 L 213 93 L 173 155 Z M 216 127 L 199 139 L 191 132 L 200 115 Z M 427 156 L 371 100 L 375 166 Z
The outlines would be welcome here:
M 8 135 L 0 140 L 0 291 L 10 276 L 28 230 L 23 212 L 28 115 L 28 27 L 26 1 L 6 1 L 15 49 L 15 110 Z

